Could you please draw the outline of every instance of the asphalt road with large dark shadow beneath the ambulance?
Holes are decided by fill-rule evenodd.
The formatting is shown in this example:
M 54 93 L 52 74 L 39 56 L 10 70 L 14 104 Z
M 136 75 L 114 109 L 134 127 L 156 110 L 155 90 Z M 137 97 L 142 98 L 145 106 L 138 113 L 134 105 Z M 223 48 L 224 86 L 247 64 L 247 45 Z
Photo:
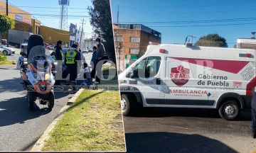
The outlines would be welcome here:
M 144 108 L 124 116 L 127 152 L 252 152 L 250 110 L 238 120 L 218 111 L 192 108 Z

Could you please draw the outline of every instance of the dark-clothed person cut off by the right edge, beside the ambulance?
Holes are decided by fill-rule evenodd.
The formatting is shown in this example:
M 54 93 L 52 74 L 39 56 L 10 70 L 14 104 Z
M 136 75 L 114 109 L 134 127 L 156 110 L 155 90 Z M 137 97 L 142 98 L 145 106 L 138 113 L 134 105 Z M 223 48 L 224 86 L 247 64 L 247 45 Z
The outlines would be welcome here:
M 252 89 L 252 138 L 256 138 L 256 86 Z

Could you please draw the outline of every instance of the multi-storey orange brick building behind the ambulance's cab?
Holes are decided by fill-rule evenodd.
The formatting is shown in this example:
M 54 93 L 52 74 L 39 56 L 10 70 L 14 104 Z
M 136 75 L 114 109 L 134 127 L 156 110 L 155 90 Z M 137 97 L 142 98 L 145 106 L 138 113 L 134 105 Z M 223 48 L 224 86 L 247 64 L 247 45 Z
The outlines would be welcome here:
M 142 57 L 149 42 L 161 43 L 161 33 L 142 24 L 114 23 L 113 26 L 117 65 L 119 65 L 119 57 L 122 61 L 120 62 L 120 70 L 124 70 L 129 64 Z M 127 60 L 127 55 L 131 56 L 130 60 Z

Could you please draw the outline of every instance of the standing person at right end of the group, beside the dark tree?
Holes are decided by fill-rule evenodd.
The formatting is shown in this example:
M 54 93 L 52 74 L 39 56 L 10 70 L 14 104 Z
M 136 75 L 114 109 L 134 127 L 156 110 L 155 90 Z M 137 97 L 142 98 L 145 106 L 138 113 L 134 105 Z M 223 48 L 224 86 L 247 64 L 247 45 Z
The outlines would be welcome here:
M 102 44 L 100 38 L 96 38 L 95 43 L 97 45 L 97 52 L 95 55 L 95 68 L 96 68 L 96 81 L 100 84 L 100 77 L 102 74 L 102 64 L 100 60 L 105 56 L 105 47 Z

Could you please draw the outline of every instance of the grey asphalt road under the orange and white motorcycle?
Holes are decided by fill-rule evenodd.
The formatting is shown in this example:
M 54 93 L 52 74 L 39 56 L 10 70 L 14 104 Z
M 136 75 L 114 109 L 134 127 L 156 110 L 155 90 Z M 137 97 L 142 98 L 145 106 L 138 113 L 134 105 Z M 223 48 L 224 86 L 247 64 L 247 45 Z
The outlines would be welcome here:
M 18 53 L 19 54 L 19 53 Z M 12 55 L 11 57 L 16 56 Z M 92 53 L 85 55 L 89 60 Z M 18 60 L 14 58 L 14 60 Z M 10 58 L 10 56 L 8 57 Z M 0 66 L 0 151 L 28 151 L 53 121 L 57 113 L 75 94 L 55 91 L 55 106 L 39 105 L 28 111 L 26 91 L 21 84 L 19 70 L 15 66 Z

